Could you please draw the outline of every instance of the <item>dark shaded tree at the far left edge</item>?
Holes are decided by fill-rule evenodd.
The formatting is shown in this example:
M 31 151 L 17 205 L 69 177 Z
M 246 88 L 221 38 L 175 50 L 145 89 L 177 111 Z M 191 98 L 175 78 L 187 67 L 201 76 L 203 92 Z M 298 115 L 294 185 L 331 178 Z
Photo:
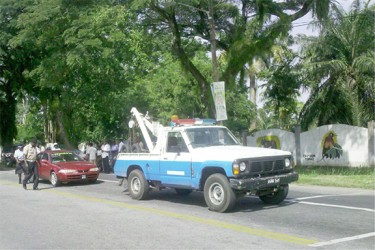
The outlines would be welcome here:
M 12 144 L 16 137 L 17 99 L 22 98 L 24 89 L 30 88 L 23 71 L 31 54 L 8 46 L 18 32 L 15 22 L 29 2 L 2 0 L 0 5 L 0 145 Z

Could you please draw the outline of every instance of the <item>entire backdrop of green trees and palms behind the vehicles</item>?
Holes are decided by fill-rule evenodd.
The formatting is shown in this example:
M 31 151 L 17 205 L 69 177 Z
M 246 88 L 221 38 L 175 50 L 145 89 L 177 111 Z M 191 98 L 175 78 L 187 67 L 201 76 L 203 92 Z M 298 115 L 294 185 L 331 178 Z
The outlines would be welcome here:
M 223 123 L 236 134 L 365 127 L 375 119 L 375 5 L 340 2 L 0 0 L 0 146 L 126 138 L 132 107 L 163 124 L 214 118 L 211 44 Z M 318 36 L 293 37 L 306 15 Z

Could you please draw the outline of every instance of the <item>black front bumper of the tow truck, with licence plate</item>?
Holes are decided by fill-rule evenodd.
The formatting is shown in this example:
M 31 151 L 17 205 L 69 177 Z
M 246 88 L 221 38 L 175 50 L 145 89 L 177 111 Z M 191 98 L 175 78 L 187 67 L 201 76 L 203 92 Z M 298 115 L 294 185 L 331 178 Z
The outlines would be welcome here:
M 291 172 L 268 177 L 254 177 L 248 179 L 230 179 L 230 185 L 235 190 L 255 191 L 268 187 L 276 187 L 286 185 L 298 180 L 298 173 Z

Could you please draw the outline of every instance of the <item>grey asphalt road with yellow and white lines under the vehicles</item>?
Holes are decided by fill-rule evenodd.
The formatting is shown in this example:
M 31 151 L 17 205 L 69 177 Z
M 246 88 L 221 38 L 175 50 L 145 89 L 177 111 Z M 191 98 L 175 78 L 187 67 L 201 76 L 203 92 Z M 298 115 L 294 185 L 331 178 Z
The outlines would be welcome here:
M 23 190 L 0 171 L 0 249 L 374 249 L 374 190 L 291 185 L 279 206 L 256 197 L 231 213 L 203 193 L 132 200 L 112 174 L 96 184 Z

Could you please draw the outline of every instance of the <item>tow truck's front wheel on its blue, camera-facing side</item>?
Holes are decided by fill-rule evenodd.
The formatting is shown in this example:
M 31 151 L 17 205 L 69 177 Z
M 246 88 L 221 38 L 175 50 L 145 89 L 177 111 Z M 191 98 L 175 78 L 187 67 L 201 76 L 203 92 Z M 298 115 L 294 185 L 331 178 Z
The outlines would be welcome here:
M 236 203 L 236 194 L 223 174 L 213 174 L 204 184 L 204 199 L 210 210 L 224 213 Z

